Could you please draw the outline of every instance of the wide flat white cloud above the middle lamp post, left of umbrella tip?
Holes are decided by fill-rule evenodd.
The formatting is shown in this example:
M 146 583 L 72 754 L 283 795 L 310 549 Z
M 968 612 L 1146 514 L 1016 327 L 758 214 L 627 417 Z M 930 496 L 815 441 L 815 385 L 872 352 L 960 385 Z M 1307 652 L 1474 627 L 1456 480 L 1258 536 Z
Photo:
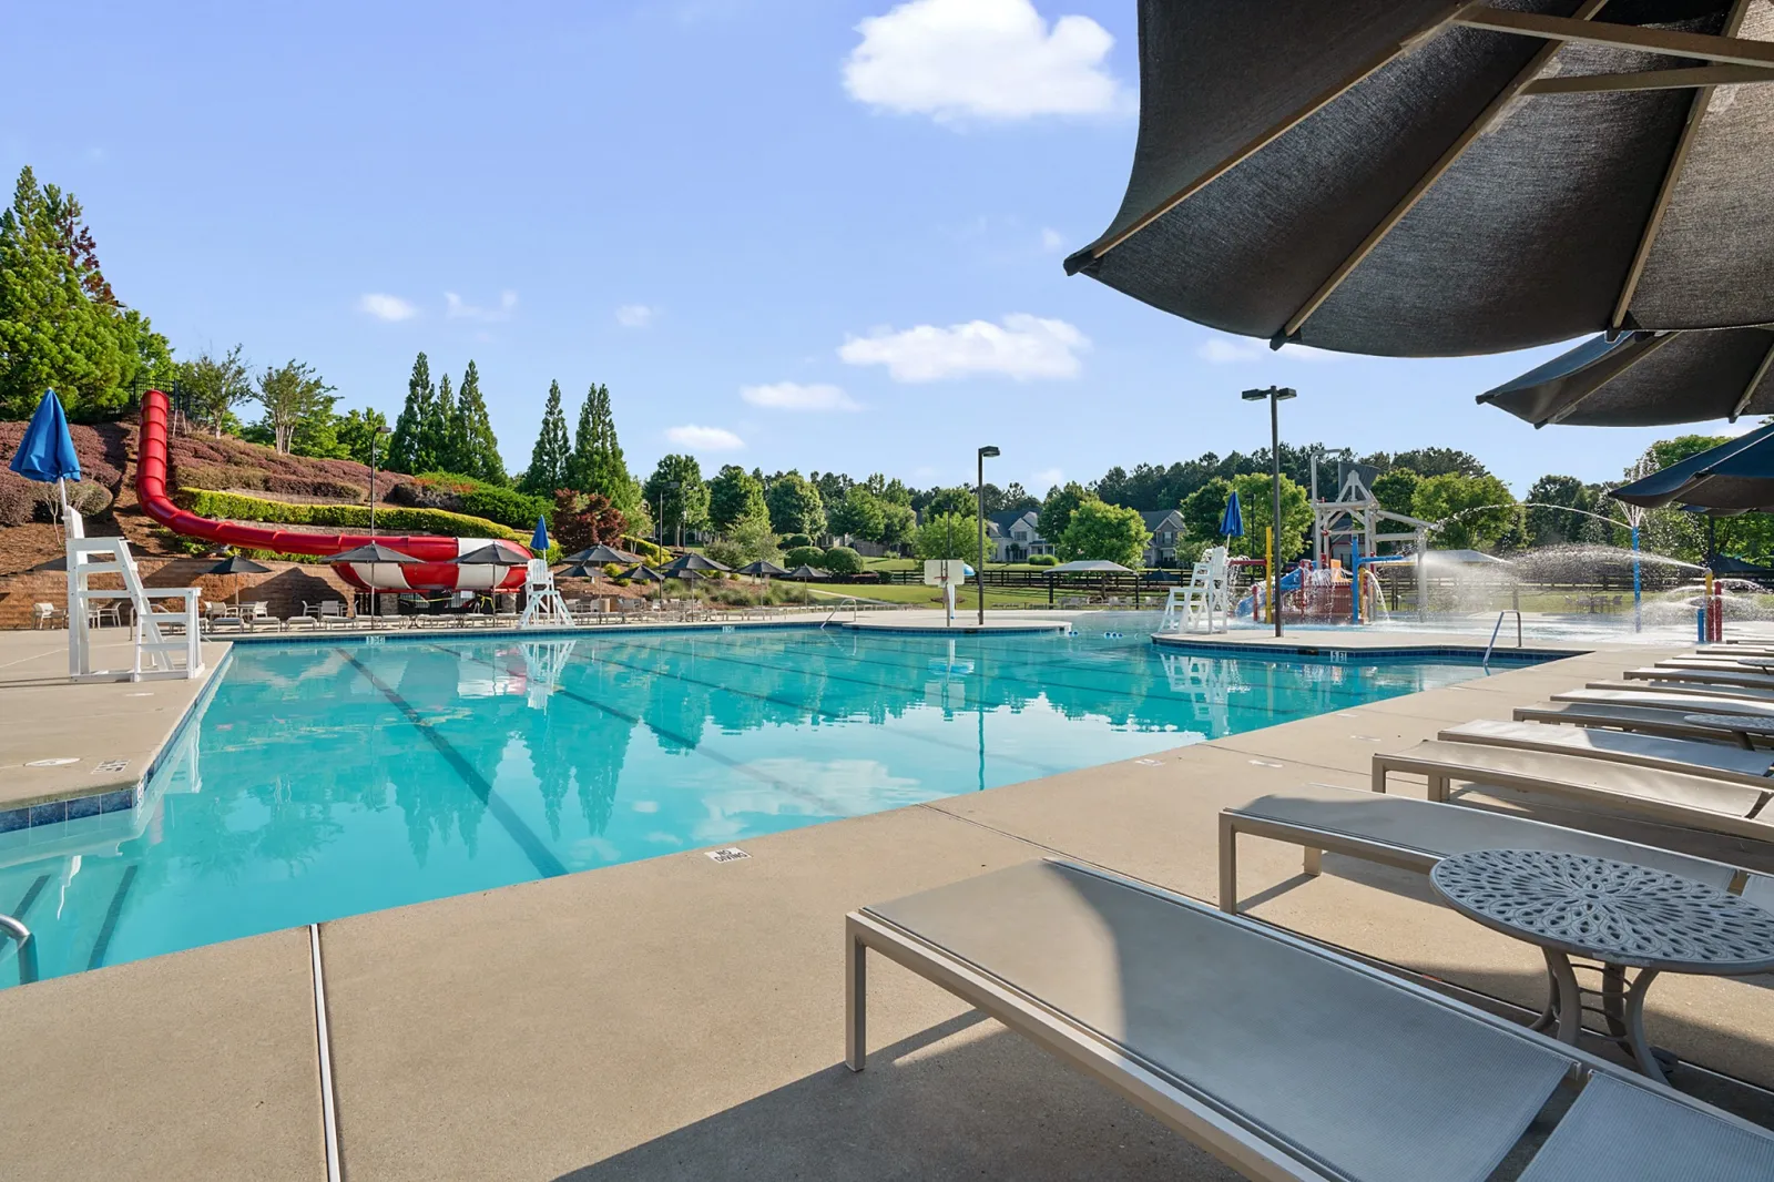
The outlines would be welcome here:
M 866 337 L 844 341 L 837 355 L 852 366 L 887 366 L 894 382 L 937 382 L 965 373 L 997 373 L 1027 382 L 1075 378 L 1079 353 L 1089 348 L 1089 337 L 1063 319 L 1015 312 L 1002 325 L 974 319 L 947 328 L 876 328 Z

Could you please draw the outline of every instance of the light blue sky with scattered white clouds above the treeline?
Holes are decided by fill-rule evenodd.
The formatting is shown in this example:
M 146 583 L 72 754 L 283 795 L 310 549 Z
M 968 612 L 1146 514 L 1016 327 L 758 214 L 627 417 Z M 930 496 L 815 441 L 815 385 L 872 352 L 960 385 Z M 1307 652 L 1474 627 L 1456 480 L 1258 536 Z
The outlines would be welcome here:
M 481 371 L 507 467 L 548 383 L 610 387 L 637 476 L 986 477 L 1283 440 L 1462 447 L 1517 495 L 1618 479 L 1662 429 L 1474 396 L 1561 351 L 1270 353 L 1061 259 L 1121 201 L 1132 0 L 591 0 L 83 9 L 7 18 L 0 169 L 73 190 L 179 355 L 305 360 L 392 419 L 413 355 Z M 250 408 L 248 408 L 250 410 Z M 1723 429 L 1723 428 L 1721 428 Z

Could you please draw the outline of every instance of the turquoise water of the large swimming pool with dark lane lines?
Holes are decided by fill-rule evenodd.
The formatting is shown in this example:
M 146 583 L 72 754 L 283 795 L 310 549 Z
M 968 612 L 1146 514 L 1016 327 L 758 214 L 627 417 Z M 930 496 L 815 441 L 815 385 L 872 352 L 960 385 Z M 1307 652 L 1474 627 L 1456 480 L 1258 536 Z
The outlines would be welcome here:
M 0 910 L 60 976 L 1481 676 L 1095 628 L 238 644 L 135 811 L 0 834 Z

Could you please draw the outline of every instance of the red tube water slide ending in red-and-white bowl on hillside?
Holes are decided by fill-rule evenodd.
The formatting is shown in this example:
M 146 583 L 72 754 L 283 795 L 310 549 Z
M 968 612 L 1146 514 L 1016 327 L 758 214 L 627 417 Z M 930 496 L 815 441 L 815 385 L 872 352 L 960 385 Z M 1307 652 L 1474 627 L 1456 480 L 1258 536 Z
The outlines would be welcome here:
M 504 538 L 444 538 L 438 534 L 310 534 L 266 525 L 218 522 L 186 513 L 167 495 L 167 447 L 170 440 L 167 396 L 149 390 L 142 396 L 142 433 L 135 458 L 135 495 L 151 518 L 176 534 L 206 538 L 252 550 L 279 550 L 282 554 L 312 554 L 330 557 L 376 541 L 378 545 L 420 559 L 415 564 L 394 563 L 335 563 L 346 582 L 378 591 L 486 591 L 498 587 L 513 591 L 523 586 L 523 568 L 529 550 Z M 513 566 L 458 566 L 454 559 L 484 545 L 511 550 Z

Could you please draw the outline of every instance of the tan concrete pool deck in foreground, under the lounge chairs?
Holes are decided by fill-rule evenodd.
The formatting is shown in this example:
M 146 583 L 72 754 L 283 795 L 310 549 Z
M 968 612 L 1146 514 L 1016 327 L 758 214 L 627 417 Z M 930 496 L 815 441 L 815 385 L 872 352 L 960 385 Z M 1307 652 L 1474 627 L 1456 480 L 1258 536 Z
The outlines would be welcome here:
M 1306 781 L 1366 786 L 1375 751 L 1506 719 L 1660 655 L 1595 651 L 754 838 L 743 861 L 674 854 L 319 925 L 344 1177 L 1231 1178 L 882 958 L 869 971 L 869 1070 L 846 1072 L 844 912 L 1045 854 L 1210 900 L 1222 806 Z M 1494 802 L 1575 816 L 1519 793 Z M 1774 870 L 1749 843 L 1707 850 Z M 1297 848 L 1249 841 L 1251 914 L 1506 1013 L 1538 1008 L 1533 948 L 1437 905 L 1417 875 L 1336 855 L 1323 870 L 1309 879 Z M 1770 985 L 1666 976 L 1650 994 L 1652 1036 L 1774 1088 Z M 305 928 L 0 990 L 9 1168 L 325 1178 L 318 1051 Z M 1703 1070 L 1676 1081 L 1774 1122 L 1769 1093 Z

